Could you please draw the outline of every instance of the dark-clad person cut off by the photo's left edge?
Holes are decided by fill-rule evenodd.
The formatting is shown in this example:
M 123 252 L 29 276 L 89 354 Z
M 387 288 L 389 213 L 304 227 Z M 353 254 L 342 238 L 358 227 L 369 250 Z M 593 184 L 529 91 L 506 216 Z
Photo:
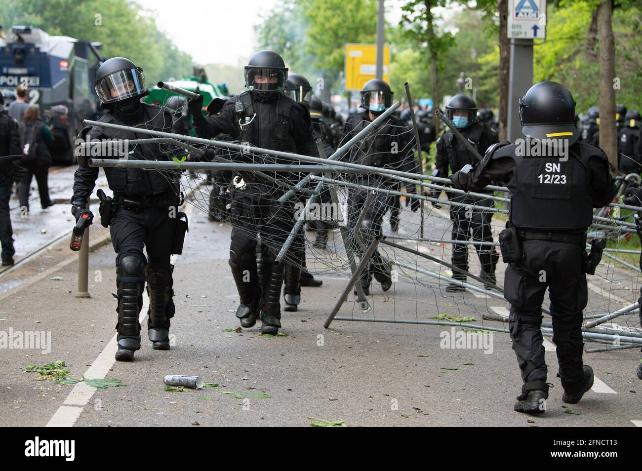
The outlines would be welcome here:
M 4 109 L 4 96 L 0 93 L 0 243 L 2 265 L 13 265 L 13 230 L 9 214 L 9 199 L 13 182 L 20 182 L 29 172 L 15 160 L 22 157 L 18 123 Z

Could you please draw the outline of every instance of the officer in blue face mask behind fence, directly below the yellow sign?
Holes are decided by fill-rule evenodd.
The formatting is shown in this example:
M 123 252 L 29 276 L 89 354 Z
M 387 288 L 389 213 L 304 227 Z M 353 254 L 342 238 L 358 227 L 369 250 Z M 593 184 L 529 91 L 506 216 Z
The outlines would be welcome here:
M 364 111 L 349 117 L 345 122 L 342 143 L 352 139 L 374 119 L 392 105 L 392 90 L 390 85 L 383 80 L 372 79 L 367 81 L 361 90 L 361 108 Z M 350 162 L 372 167 L 394 168 L 401 171 L 417 173 L 419 164 L 415 160 L 413 134 L 401 119 L 390 116 L 379 126 L 370 131 L 355 144 L 344 158 Z M 354 176 L 354 183 L 362 186 L 394 189 L 396 180 L 391 180 L 376 173 L 360 174 Z M 415 194 L 415 185 L 406 185 L 406 192 Z M 363 212 L 363 207 L 370 193 L 369 189 L 350 189 L 348 194 L 348 225 L 354 228 Z M 388 207 L 388 195 L 376 192 L 370 207 L 365 212 L 363 223 L 360 227 L 361 238 L 365 244 L 370 244 L 374 237 L 381 235 L 383 215 Z M 417 198 L 406 198 L 406 206 L 410 205 L 413 211 L 419 208 Z M 351 230 L 352 233 L 352 230 Z M 361 253 L 360 244 L 354 244 L 357 253 Z M 361 286 L 366 294 L 370 293 L 372 277 L 381 283 L 383 291 L 388 291 L 392 286 L 390 266 L 383 260 L 378 250 L 370 258 L 367 269 L 361 275 Z

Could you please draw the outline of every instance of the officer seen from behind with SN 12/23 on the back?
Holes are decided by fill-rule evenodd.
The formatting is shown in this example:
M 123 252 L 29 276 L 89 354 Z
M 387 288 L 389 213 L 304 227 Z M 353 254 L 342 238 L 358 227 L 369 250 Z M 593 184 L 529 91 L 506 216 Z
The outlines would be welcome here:
M 586 257 L 586 230 L 593 221 L 592 209 L 609 204 L 616 187 L 603 151 L 578 141 L 575 101 L 564 85 L 533 85 L 519 101 L 519 116 L 525 136 L 556 139 L 559 145 L 553 151 L 542 146 L 541 153 L 528 153 L 523 140 L 509 145 L 502 141 L 482 162 L 465 166 L 450 179 L 467 191 L 492 181 L 507 182 L 512 193 L 509 222 L 499 243 L 504 261 L 510 263 L 504 296 L 510 302 L 508 328 L 524 382 L 514 409 L 544 413 L 549 384 L 540 328 L 547 287 L 562 400 L 575 404 L 593 386 L 593 370 L 582 365 L 581 329 L 585 273 L 594 271 L 600 252 L 591 250 Z

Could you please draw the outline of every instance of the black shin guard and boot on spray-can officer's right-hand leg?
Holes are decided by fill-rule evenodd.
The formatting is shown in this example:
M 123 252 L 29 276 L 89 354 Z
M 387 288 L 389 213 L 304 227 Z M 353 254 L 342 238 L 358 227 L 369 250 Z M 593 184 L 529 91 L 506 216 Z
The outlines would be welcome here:
M 150 262 L 147 265 L 147 294 L 150 297 L 147 335 L 154 350 L 169 350 L 169 320 L 175 313 L 173 269 L 171 264 Z

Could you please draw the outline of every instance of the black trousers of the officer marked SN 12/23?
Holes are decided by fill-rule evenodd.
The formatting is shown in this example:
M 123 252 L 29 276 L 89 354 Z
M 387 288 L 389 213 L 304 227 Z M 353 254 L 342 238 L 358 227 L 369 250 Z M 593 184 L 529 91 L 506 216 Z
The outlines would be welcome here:
M 507 267 L 504 297 L 510 303 L 508 329 L 525 382 L 523 391 L 545 389 L 547 368 L 540 327 L 547 287 L 559 377 L 566 382 L 580 381 L 584 378 L 582 311 L 587 303 L 584 247 L 538 240 L 521 244 L 525 258 Z

